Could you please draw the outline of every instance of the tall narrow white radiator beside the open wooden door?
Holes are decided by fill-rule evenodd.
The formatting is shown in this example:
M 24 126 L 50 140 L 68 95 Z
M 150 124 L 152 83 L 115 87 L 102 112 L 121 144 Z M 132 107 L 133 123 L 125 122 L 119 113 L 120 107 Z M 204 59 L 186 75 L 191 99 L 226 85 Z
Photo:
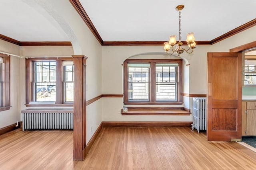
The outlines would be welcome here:
M 206 130 L 206 98 L 193 98 L 193 123 L 192 131 L 197 129 L 198 133 L 200 130 Z

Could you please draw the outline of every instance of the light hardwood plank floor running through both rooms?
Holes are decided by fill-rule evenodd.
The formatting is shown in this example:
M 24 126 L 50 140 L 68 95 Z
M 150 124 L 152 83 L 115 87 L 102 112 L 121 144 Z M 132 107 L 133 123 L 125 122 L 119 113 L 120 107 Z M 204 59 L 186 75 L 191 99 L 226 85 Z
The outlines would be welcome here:
M 104 127 L 84 161 L 73 161 L 72 131 L 0 136 L 1 170 L 256 169 L 256 153 L 236 142 L 208 142 L 186 127 Z

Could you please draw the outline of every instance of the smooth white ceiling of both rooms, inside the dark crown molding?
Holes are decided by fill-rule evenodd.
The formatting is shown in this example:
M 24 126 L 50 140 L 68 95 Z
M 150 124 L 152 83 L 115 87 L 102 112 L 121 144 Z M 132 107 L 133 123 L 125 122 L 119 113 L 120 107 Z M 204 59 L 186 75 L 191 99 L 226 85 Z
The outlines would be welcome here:
M 29 0 L 0 0 L 0 34 L 18 41 L 70 41 L 58 23 L 28 5 Z M 61 0 L 59 0 L 61 3 Z M 103 41 L 210 41 L 256 18 L 256 0 L 79 0 Z M 177 38 L 178 39 L 178 38 Z

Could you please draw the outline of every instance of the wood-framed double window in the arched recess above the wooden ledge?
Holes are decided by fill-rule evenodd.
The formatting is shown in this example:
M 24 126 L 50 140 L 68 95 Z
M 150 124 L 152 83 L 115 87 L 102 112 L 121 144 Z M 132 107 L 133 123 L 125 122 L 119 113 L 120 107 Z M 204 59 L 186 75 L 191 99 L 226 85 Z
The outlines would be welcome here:
M 124 61 L 124 104 L 182 104 L 182 60 Z

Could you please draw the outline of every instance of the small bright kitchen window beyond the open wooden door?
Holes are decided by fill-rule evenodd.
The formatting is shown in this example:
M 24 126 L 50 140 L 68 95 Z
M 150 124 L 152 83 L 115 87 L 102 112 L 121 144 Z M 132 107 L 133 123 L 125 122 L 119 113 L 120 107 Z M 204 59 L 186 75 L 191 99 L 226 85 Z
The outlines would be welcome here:
M 244 85 L 256 85 L 256 60 L 245 61 Z

